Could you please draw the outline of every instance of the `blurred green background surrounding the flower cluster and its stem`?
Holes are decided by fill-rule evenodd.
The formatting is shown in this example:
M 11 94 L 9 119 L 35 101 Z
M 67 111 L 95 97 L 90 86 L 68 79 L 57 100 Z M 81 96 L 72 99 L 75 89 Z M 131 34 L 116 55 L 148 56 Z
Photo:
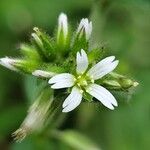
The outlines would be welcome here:
M 68 114 L 66 128 L 87 135 L 102 150 L 149 150 L 150 1 L 1 0 L 0 57 L 18 56 L 19 44 L 29 42 L 34 26 L 52 34 L 60 12 L 67 13 L 74 27 L 82 17 L 90 17 L 94 28 L 92 44 L 108 47 L 109 55 L 120 60 L 118 72 L 140 83 L 134 91 L 115 93 L 119 102 L 115 111 L 82 105 L 77 113 Z M 63 143 L 57 143 L 56 148 L 56 141 L 44 137 L 13 142 L 11 133 L 26 115 L 34 82 L 29 76 L 0 67 L 0 149 L 71 149 Z

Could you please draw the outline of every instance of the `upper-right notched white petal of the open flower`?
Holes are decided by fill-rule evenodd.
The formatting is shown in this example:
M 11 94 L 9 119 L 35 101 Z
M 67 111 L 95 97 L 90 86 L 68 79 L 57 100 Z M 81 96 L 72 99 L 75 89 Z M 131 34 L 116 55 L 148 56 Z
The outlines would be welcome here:
M 113 61 L 114 59 L 115 59 L 114 56 L 110 56 L 110 57 L 107 57 L 107 58 L 101 60 L 99 63 L 94 65 L 87 72 L 87 74 L 89 76 L 93 77 L 94 80 L 102 78 L 103 76 L 110 73 L 117 67 L 119 61 L 118 60 Z

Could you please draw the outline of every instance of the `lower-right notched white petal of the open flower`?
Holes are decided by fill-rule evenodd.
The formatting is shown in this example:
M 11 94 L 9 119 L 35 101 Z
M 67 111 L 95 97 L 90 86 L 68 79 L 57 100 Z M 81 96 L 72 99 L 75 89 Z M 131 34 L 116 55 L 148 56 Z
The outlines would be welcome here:
M 114 106 L 118 106 L 114 96 L 107 89 L 100 85 L 91 84 L 86 91 L 111 110 L 114 109 Z

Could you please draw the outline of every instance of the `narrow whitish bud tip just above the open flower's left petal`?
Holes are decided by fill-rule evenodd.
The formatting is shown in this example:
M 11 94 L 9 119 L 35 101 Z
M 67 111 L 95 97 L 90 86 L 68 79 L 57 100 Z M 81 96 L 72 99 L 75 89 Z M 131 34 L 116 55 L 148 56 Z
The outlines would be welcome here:
M 43 70 L 35 70 L 34 72 L 32 72 L 32 75 L 34 75 L 36 77 L 50 78 L 56 74 L 53 72 L 47 72 L 47 71 L 43 71 Z

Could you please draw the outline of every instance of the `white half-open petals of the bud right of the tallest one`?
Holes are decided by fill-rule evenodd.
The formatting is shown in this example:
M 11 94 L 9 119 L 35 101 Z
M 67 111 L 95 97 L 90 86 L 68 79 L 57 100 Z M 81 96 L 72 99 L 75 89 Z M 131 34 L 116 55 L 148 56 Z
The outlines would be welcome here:
M 89 22 L 87 18 L 83 18 L 80 21 L 79 27 L 77 29 L 77 34 L 79 34 L 79 38 L 82 36 L 86 37 L 86 40 L 89 40 L 92 33 L 92 22 Z

